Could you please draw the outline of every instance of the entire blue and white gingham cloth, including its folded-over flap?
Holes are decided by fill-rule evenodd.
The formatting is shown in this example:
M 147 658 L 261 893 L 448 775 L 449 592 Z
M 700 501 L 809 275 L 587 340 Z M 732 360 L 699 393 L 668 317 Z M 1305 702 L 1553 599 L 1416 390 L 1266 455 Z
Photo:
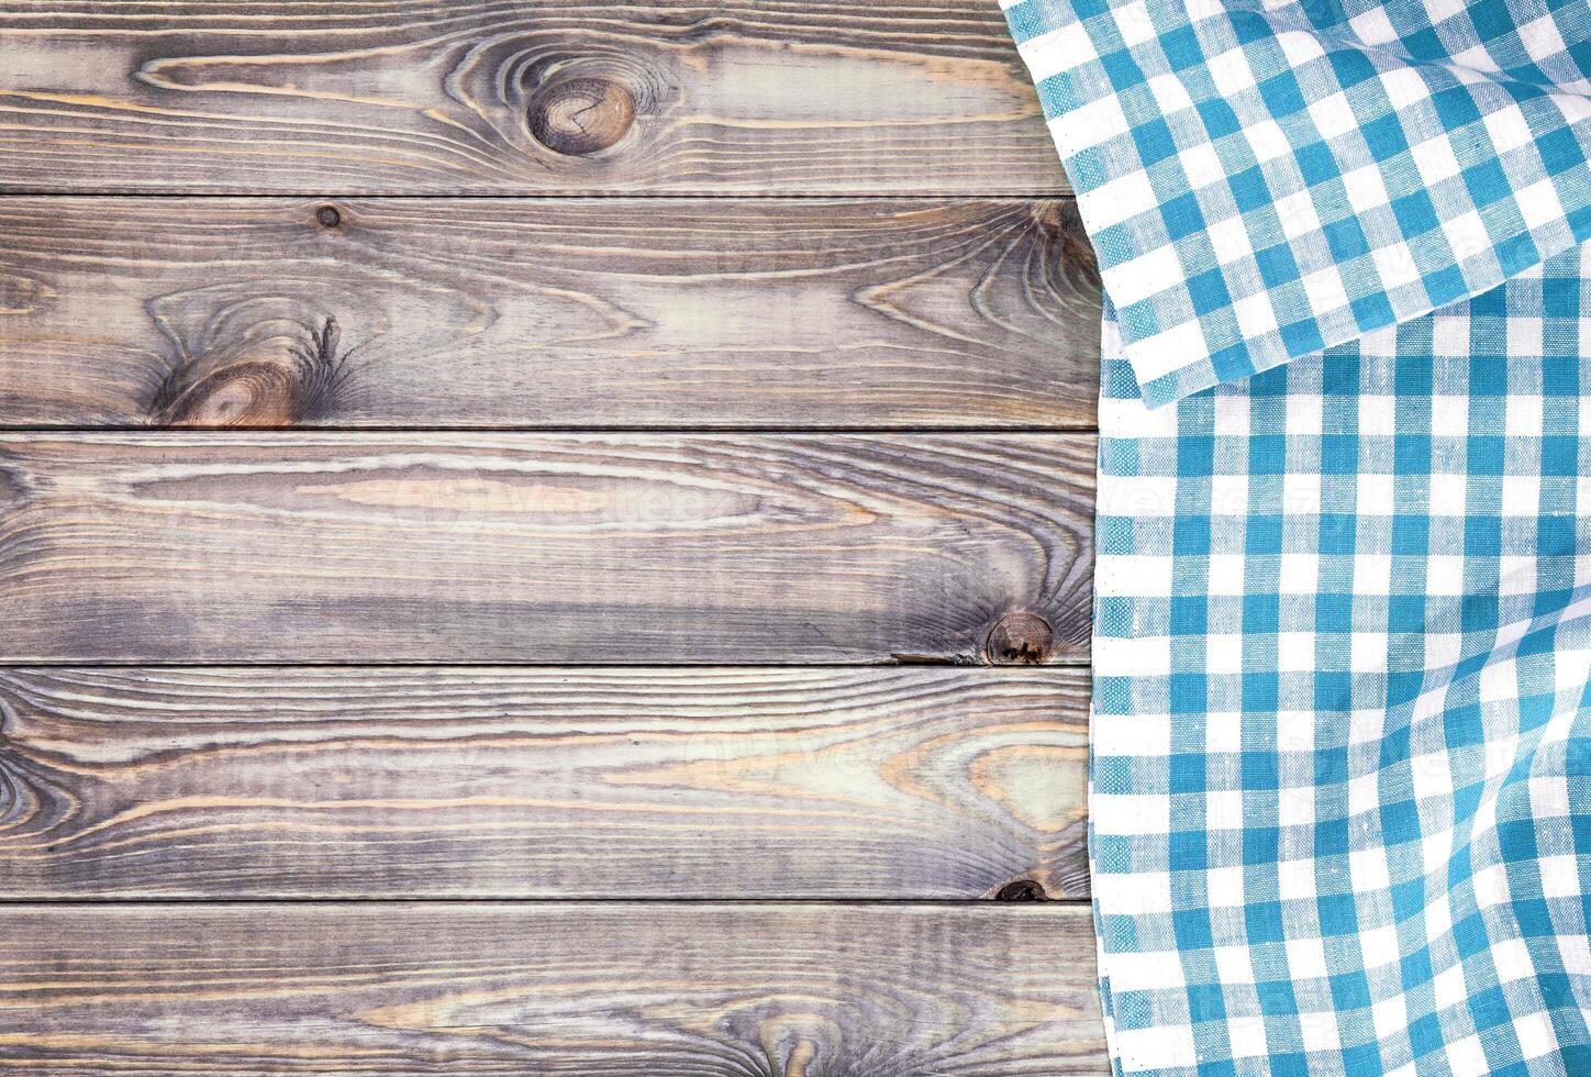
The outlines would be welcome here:
M 1591 1077 L 1591 3 L 1025 0 L 1122 1074 Z

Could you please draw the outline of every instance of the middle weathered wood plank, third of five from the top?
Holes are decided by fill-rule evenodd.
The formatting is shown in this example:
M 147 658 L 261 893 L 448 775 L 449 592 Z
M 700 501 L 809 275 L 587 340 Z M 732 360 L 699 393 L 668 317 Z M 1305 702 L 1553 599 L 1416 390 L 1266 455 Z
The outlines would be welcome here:
M 0 662 L 1076 660 L 1093 447 L 0 434 Z

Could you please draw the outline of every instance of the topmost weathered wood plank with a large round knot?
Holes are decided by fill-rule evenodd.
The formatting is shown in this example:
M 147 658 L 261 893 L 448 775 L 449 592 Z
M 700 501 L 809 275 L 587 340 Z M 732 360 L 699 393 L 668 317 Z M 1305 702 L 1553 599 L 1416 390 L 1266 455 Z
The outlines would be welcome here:
M 990 0 L 0 0 L 0 189 L 1061 192 Z

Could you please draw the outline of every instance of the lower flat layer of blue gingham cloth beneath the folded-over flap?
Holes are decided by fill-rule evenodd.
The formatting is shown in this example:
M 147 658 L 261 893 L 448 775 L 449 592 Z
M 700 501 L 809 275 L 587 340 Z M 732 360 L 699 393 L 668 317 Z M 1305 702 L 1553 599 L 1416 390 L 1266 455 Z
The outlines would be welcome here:
M 1160 410 L 1107 329 L 1090 850 L 1122 1072 L 1591 1074 L 1581 312 L 1572 251 Z

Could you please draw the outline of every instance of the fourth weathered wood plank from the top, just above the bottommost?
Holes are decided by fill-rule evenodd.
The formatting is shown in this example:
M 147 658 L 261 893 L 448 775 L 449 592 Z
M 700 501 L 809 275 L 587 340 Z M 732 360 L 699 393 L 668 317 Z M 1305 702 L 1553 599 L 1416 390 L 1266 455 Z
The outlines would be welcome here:
M 8 899 L 1087 897 L 1082 670 L 0 671 Z

